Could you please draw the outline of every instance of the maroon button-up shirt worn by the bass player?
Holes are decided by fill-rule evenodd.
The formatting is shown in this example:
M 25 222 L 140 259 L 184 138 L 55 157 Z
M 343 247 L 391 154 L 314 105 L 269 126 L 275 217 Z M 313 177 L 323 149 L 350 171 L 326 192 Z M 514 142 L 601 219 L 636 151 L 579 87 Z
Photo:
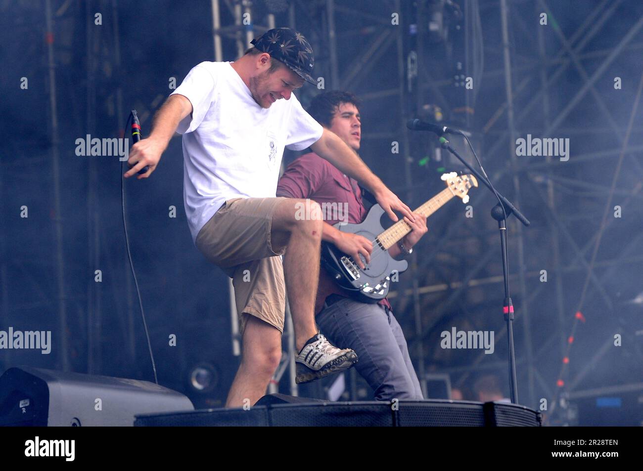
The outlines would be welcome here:
M 323 203 L 337 204 L 338 211 L 329 211 L 323 214 L 325 222 L 334 225 L 340 222 L 332 217 L 341 217 L 349 224 L 359 224 L 367 215 L 367 210 L 362 202 L 361 190 L 355 179 L 347 177 L 329 161 L 322 159 L 314 152 L 305 154 L 286 168 L 284 175 L 277 185 L 277 196 L 298 199 L 311 199 Z M 344 204 L 346 203 L 346 204 Z M 348 214 L 340 208 L 348 207 Z M 334 209 L 334 206 L 332 206 Z M 328 274 L 320 271 L 320 283 L 315 299 L 315 314 L 321 311 L 327 296 L 340 294 L 350 297 L 350 292 L 341 288 Z M 388 299 L 384 298 L 379 304 L 391 308 Z

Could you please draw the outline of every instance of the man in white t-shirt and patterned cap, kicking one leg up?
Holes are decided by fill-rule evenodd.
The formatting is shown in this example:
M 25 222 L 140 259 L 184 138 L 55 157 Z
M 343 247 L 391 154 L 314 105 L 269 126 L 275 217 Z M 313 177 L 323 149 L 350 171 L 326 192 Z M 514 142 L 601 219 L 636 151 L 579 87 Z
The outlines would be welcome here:
M 393 220 L 394 210 L 413 220 L 408 206 L 294 96 L 304 80 L 316 83 L 303 35 L 275 28 L 251 44 L 235 62 L 201 62 L 190 70 L 156 113 L 149 138 L 132 147 L 132 168 L 124 175 L 148 166 L 138 179 L 149 177 L 174 132 L 183 134 L 183 198 L 192 240 L 232 278 L 239 313 L 242 359 L 228 407 L 254 404 L 279 364 L 285 287 L 299 352 L 296 382 L 357 361 L 353 350 L 332 346 L 314 323 L 321 208 L 310 202 L 310 217 L 302 219 L 305 200 L 275 197 L 284 147 L 311 147 L 368 188 Z

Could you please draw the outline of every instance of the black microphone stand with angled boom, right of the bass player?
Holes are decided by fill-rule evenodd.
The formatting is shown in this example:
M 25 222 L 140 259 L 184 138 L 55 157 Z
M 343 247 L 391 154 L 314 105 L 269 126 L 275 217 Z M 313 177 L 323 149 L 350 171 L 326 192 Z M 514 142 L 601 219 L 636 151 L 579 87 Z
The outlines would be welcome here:
M 505 220 L 505 213 L 507 214 L 507 217 L 509 215 L 513 214 L 518 218 L 520 222 L 522 222 L 525 226 L 529 226 L 530 222 L 529 220 L 523 216 L 523 214 L 518 211 L 518 209 L 511 204 L 511 202 L 503 197 L 498 191 L 494 191 L 493 186 L 491 186 L 491 183 L 487 181 L 485 177 L 482 177 L 480 173 L 478 173 L 476 170 L 474 170 L 471 165 L 469 165 L 461 156 L 456 152 L 456 150 L 449 145 L 449 141 L 444 138 L 444 136 L 440 137 L 440 143 L 441 147 L 443 149 L 448 150 L 453 154 L 455 157 L 458 158 L 460 162 L 466 166 L 471 173 L 478 179 L 478 181 L 481 181 L 482 183 L 485 184 L 487 188 L 489 188 L 489 191 L 494 193 L 502 201 L 502 206 L 500 206 L 500 202 L 496 204 L 491 209 L 491 217 L 493 217 L 495 220 L 498 221 L 498 229 L 500 230 L 500 248 L 502 252 L 502 275 L 505 281 L 505 301 L 504 305 L 502 308 L 503 315 L 505 317 L 505 321 L 507 322 L 507 339 L 509 339 L 509 387 L 511 391 L 511 402 L 513 404 L 518 404 L 518 381 L 516 380 L 516 353 L 514 350 L 514 330 L 513 330 L 513 321 L 514 321 L 514 306 L 511 302 L 511 297 L 509 296 L 509 262 L 508 262 L 508 257 L 507 257 L 507 220 Z

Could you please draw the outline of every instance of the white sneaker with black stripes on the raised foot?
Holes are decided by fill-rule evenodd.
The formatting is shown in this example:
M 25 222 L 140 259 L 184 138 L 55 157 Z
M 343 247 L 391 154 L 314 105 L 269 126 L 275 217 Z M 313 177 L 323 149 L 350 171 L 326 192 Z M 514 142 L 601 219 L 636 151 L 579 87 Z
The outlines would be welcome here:
M 340 350 L 318 333 L 303 346 L 294 359 L 296 364 L 296 384 L 323 378 L 331 373 L 349 369 L 358 360 L 358 355 L 350 348 Z

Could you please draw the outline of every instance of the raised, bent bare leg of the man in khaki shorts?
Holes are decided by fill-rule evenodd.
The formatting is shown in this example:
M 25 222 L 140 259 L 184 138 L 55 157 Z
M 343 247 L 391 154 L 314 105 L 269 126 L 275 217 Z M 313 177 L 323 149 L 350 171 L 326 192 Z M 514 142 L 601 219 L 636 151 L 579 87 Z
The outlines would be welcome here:
M 308 204 L 309 214 L 316 214 L 320 218 L 296 218 L 296 204 Z M 314 201 L 285 199 L 273 215 L 273 249 L 287 245 L 284 278 L 293 315 L 297 351 L 302 350 L 305 342 L 318 332 L 314 321 L 314 303 L 319 283 L 322 228 L 321 208 Z

